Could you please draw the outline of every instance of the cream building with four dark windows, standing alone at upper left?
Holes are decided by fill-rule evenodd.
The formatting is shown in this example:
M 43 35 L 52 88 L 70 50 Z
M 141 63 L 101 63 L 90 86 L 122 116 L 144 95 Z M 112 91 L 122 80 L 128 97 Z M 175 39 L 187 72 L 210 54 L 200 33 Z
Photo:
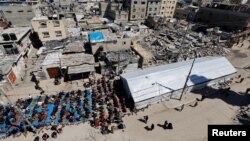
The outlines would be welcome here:
M 34 17 L 31 24 L 42 42 L 67 38 L 64 19 L 48 18 L 47 16 Z

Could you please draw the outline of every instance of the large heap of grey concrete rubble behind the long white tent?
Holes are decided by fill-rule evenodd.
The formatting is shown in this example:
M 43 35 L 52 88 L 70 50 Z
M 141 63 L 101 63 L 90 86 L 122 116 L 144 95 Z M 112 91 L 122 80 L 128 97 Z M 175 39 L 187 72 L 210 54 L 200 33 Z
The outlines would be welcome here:
M 207 34 L 165 27 L 141 39 L 142 47 L 153 54 L 156 64 L 173 63 L 195 57 L 225 56 L 229 51 L 223 33 Z

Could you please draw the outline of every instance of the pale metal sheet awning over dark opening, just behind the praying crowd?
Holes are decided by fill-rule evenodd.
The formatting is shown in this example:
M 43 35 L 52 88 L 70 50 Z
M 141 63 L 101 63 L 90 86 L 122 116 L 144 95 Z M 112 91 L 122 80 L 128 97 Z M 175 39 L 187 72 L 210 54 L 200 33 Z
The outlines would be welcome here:
M 95 71 L 94 65 L 79 65 L 79 66 L 70 66 L 68 68 L 68 74 L 78 74 L 78 73 L 84 73 L 84 72 L 93 72 Z

